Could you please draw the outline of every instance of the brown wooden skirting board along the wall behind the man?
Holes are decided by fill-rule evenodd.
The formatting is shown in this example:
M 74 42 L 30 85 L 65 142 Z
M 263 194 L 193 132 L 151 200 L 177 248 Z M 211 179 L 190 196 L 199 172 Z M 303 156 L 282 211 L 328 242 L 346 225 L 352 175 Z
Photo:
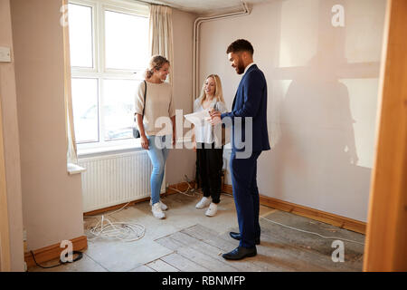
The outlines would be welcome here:
M 233 194 L 231 185 L 223 185 L 222 190 L 226 193 Z M 361 234 L 365 234 L 366 231 L 366 223 L 363 221 L 337 216 L 326 211 L 300 206 L 277 198 L 269 198 L 260 195 L 260 205 L 276 208 L 282 211 L 288 211 L 301 217 L 315 219 L 317 221 L 322 221 L 336 227 L 343 227 Z

